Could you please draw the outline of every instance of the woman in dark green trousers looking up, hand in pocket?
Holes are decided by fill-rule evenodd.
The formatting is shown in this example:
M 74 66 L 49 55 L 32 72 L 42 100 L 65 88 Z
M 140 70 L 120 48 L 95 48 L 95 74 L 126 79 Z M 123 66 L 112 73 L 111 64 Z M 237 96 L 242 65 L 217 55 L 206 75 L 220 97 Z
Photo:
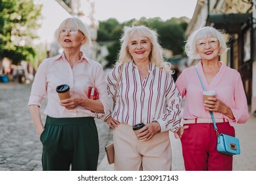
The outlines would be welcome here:
M 97 170 L 99 140 L 94 118 L 109 110 L 103 68 L 80 51 L 91 40 L 78 18 L 61 23 L 57 41 L 64 51 L 39 65 L 28 103 L 43 144 L 43 170 Z M 60 100 L 56 87 L 63 84 L 70 87 L 70 98 Z M 88 98 L 90 86 L 99 91 L 98 100 Z M 45 97 L 43 126 L 39 108 Z

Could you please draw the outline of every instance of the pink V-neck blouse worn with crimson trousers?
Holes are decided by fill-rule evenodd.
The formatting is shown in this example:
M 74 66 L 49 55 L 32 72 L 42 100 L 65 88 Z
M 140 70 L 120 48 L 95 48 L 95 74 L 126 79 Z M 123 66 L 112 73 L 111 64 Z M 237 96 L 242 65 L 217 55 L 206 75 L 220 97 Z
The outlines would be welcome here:
M 207 83 L 201 62 L 197 64 L 197 70 L 207 90 L 215 90 L 217 99 L 230 106 L 235 120 L 231 120 L 224 114 L 214 112 L 215 118 L 227 118 L 230 126 L 236 123 L 244 124 L 248 118 L 248 106 L 243 89 L 243 83 L 238 71 L 221 62 L 218 74 L 211 83 Z M 203 106 L 203 87 L 197 76 L 195 66 L 183 70 L 176 81 L 176 86 L 182 97 L 186 97 L 183 118 L 211 118 L 208 110 Z

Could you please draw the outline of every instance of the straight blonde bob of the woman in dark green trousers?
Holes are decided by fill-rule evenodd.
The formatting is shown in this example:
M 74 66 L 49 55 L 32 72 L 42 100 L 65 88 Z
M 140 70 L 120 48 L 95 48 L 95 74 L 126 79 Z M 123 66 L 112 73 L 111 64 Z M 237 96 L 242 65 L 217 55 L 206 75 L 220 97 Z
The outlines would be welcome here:
M 57 37 L 57 41 L 58 41 L 59 45 L 61 45 L 60 44 L 61 31 L 63 30 L 63 28 L 65 26 L 68 26 L 70 28 L 78 28 L 78 30 L 80 30 L 80 32 L 82 32 L 82 34 L 84 34 L 86 36 L 86 41 L 82 45 L 85 47 L 92 46 L 91 39 L 89 37 L 86 24 L 84 24 L 84 22 L 82 22 L 82 20 L 80 20 L 79 18 L 76 18 L 76 17 L 66 18 L 65 20 L 63 20 L 63 22 L 61 22 L 61 25 L 59 26 L 59 28 L 57 29 L 57 32 L 56 32 L 56 37 Z

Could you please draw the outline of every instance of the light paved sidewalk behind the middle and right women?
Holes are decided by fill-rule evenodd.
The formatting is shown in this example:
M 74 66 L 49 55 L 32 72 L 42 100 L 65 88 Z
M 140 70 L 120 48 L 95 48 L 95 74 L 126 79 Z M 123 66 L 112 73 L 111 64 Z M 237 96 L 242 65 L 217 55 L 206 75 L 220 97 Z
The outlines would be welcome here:
M 234 171 L 256 171 L 256 118 L 250 114 L 249 120 L 245 124 L 235 126 L 236 137 L 240 139 L 241 154 L 234 156 Z M 184 171 L 182 158 L 182 148 L 180 139 L 175 139 L 170 133 L 172 143 L 172 170 Z M 107 156 L 101 160 L 97 170 L 113 171 L 114 164 L 109 165 Z

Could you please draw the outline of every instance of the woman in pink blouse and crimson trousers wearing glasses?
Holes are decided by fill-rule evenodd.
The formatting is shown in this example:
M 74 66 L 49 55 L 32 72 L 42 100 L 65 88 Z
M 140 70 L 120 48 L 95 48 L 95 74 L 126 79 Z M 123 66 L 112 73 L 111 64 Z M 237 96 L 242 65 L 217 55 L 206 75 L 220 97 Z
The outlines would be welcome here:
M 222 33 L 204 27 L 195 31 L 186 43 L 188 57 L 200 59 L 196 64 L 207 90 L 216 96 L 203 101 L 203 87 L 195 66 L 180 74 L 176 87 L 186 97 L 183 113 L 182 153 L 186 170 L 232 170 L 232 156 L 217 151 L 217 134 L 211 120 L 212 111 L 218 132 L 235 136 L 234 125 L 248 118 L 247 100 L 238 71 L 218 60 L 227 51 Z

